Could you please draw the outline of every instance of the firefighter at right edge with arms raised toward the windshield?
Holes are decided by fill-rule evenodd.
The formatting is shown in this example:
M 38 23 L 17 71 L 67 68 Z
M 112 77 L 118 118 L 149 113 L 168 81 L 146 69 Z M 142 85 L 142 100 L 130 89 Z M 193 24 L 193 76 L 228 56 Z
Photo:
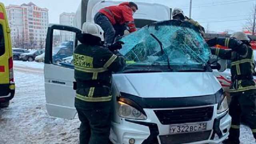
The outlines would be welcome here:
M 230 86 L 230 116 L 232 125 L 230 135 L 224 144 L 240 144 L 240 118 L 252 129 L 256 138 L 256 86 L 253 80 L 254 58 L 249 38 L 243 32 L 235 32 L 230 38 L 213 38 L 207 41 L 209 46 L 219 44 L 230 48 L 224 50 L 211 48 L 212 54 L 222 59 L 231 60 L 232 84 Z

